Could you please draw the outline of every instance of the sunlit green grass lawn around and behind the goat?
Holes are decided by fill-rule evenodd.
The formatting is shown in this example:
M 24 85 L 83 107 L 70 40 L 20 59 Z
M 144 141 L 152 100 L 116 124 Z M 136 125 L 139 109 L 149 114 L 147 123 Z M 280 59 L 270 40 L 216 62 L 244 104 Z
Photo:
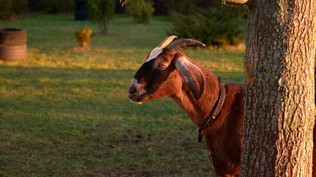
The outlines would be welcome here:
M 128 88 L 171 22 L 124 15 L 99 36 L 91 21 L 28 13 L 24 61 L 0 60 L 0 176 L 211 176 L 197 125 L 168 98 L 131 103 Z M 75 31 L 93 31 L 90 50 Z M 243 82 L 244 49 L 185 49 L 222 82 Z

